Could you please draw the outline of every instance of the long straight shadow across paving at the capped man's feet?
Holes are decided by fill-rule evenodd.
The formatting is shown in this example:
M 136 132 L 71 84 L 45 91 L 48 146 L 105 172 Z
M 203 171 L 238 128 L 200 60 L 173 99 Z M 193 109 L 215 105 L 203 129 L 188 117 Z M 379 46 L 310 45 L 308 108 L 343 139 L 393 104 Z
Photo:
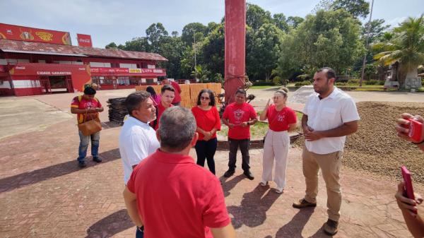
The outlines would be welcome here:
M 96 165 L 101 165 L 102 163 L 105 163 L 105 162 L 117 160 L 121 157 L 121 155 L 119 155 L 119 149 L 107 150 L 103 153 L 100 153 L 99 156 L 103 160 L 99 164 L 91 161 L 90 157 L 86 157 L 87 167 L 83 169 L 87 169 L 88 167 L 93 167 Z M 0 193 L 3 193 L 5 191 L 11 191 L 14 189 L 19 189 L 23 186 L 27 186 L 30 184 L 36 184 L 38 182 L 42 182 L 47 179 L 52 179 L 55 177 L 60 177 L 62 175 L 71 174 L 79 170 L 81 170 L 81 168 L 78 167 L 78 162 L 75 159 L 72 161 L 63 162 L 61 164 L 52 165 L 42 169 L 37 169 L 31 172 L 25 172 L 22 174 L 11 176 L 11 177 L 6 177 L 4 179 L 0 179 Z

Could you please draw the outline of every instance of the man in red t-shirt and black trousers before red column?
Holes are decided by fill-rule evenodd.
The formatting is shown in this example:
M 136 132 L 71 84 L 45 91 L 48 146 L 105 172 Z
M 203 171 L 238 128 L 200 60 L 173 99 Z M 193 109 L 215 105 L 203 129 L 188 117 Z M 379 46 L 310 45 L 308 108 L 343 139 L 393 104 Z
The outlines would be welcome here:
M 244 174 L 248 179 L 254 179 L 249 166 L 249 145 L 250 126 L 257 123 L 257 117 L 258 114 L 252 105 L 246 102 L 246 91 L 242 88 L 238 89 L 235 92 L 235 102 L 225 107 L 223 114 L 223 123 L 228 126 L 228 143 L 230 143 L 228 170 L 224 177 L 234 174 L 237 149 L 240 146 Z

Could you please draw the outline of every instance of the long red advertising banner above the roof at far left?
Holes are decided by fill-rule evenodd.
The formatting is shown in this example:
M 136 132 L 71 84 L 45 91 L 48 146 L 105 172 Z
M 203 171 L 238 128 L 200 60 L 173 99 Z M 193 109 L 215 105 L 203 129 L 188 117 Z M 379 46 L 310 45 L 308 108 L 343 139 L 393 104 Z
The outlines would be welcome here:
M 69 32 L 0 23 L 0 39 L 71 45 Z

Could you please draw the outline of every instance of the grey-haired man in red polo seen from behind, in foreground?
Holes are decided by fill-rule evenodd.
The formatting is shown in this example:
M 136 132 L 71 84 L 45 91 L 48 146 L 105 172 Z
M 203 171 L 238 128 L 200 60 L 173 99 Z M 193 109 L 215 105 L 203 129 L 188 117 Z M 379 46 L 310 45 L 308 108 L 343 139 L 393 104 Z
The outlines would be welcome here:
M 233 238 L 219 180 L 189 151 L 198 138 L 189 109 L 172 107 L 156 132 L 160 148 L 131 174 L 124 190 L 129 216 L 146 238 Z

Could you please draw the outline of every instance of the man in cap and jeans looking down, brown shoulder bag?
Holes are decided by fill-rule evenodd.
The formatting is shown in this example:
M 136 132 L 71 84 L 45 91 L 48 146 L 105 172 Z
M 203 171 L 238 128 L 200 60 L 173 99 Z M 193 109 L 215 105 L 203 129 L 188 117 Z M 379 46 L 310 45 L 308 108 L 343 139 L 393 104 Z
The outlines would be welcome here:
M 97 119 L 99 112 L 103 112 L 103 107 L 100 101 L 95 97 L 95 90 L 91 87 L 84 89 L 84 94 L 73 97 L 71 102 L 71 113 L 76 114 L 78 124 L 86 121 Z M 93 161 L 102 162 L 99 157 L 99 141 L 100 131 L 91 134 L 90 136 L 84 136 L 81 131 L 78 131 L 80 137 L 80 144 L 78 147 L 78 166 L 86 167 L 86 155 L 88 143 L 91 141 L 91 155 L 93 155 Z

